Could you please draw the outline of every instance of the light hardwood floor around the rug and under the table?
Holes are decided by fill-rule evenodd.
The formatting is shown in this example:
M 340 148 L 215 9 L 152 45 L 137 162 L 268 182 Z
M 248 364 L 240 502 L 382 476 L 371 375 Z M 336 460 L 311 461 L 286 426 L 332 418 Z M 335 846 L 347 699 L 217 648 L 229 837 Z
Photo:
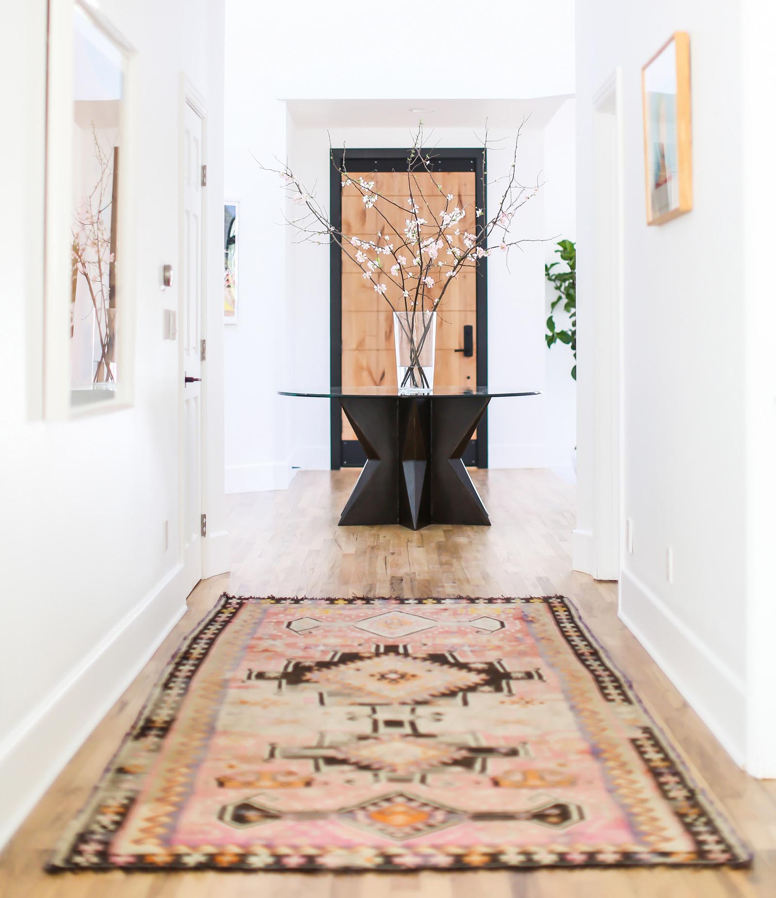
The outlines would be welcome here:
M 570 569 L 574 490 L 549 471 L 477 471 L 493 526 L 336 526 L 356 471 L 299 473 L 286 492 L 230 497 L 232 573 L 204 581 L 165 639 L 32 812 L 0 858 L 3 898 L 731 898 L 776 896 L 776 782 L 746 776 L 617 618 L 616 586 Z M 529 595 L 571 597 L 648 709 L 682 746 L 753 846 L 751 870 L 545 870 L 524 873 L 41 872 L 160 667 L 223 591 L 250 595 Z M 2 800 L 2 799 L 0 799 Z

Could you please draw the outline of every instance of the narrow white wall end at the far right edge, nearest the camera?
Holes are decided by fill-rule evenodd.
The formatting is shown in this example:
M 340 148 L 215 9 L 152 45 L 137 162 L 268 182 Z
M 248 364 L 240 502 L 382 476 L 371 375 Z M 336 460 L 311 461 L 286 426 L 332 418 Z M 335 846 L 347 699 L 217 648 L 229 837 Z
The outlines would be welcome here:
M 763 290 L 761 267 L 776 242 L 776 168 L 770 109 L 776 83 L 776 6 L 743 0 L 741 45 L 745 49 L 741 96 L 746 316 L 746 683 L 747 768 L 776 779 L 776 373 L 773 366 L 772 290 Z M 764 326 L 763 326 L 764 325 Z

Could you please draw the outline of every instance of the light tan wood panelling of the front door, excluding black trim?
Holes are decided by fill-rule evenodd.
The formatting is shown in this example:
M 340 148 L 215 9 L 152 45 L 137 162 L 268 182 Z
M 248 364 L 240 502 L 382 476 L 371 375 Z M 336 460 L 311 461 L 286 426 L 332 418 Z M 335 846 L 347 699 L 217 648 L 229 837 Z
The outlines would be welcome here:
M 345 158 L 347 159 L 347 155 Z M 397 164 L 400 163 L 397 161 Z M 406 219 L 411 217 L 411 210 L 406 202 L 409 196 L 406 173 L 355 172 L 351 177 L 353 180 L 362 177 L 367 182 L 373 180 L 373 189 L 396 205 L 383 201 L 368 209 L 355 185 L 346 185 L 342 189 L 343 233 L 377 242 L 379 232 L 382 237 L 380 244 L 393 243 L 394 252 L 404 254 L 410 260 L 412 250 L 400 249 L 405 239 L 403 230 Z M 474 231 L 477 220 L 474 172 L 434 172 L 433 175 L 424 173 L 416 177 L 422 191 L 418 195 L 413 182 L 413 198 L 418 206 L 418 216 L 429 220 L 436 218 L 448 202 L 447 195 L 451 194 L 453 199 L 449 201 L 448 208 L 458 206 L 467 211 L 467 216 L 459 225 L 460 230 Z M 426 232 L 431 233 L 431 230 L 422 228 L 421 236 Z M 370 280 L 362 277 L 361 268 L 350 258 L 349 252 L 350 255 L 355 254 L 355 250 L 350 247 L 342 254 L 342 383 L 345 386 L 396 386 L 396 355 L 390 307 L 383 297 L 375 293 Z M 431 301 L 440 295 L 445 280 L 438 279 L 433 288 L 427 291 L 426 295 Z M 397 302 L 393 297 L 392 301 Z M 465 324 L 475 329 L 474 355 L 468 358 L 462 352 L 455 352 L 457 348 L 463 348 Z M 445 386 L 477 384 L 477 273 L 474 269 L 463 271 L 445 290 L 437 318 L 434 382 Z M 344 415 L 342 438 L 356 438 Z

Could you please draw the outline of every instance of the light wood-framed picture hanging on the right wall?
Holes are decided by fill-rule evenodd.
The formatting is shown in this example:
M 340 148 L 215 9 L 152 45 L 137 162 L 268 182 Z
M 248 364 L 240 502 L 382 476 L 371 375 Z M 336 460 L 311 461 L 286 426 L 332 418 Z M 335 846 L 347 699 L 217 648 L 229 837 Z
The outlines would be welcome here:
M 647 225 L 692 208 L 690 35 L 675 31 L 641 70 Z

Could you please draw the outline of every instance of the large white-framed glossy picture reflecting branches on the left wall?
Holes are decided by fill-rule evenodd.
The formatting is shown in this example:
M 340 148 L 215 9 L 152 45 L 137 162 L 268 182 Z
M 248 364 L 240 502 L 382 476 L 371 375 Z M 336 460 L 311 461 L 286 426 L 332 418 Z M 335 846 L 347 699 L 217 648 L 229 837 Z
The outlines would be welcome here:
M 50 0 L 47 417 L 131 400 L 131 56 L 92 4 Z

